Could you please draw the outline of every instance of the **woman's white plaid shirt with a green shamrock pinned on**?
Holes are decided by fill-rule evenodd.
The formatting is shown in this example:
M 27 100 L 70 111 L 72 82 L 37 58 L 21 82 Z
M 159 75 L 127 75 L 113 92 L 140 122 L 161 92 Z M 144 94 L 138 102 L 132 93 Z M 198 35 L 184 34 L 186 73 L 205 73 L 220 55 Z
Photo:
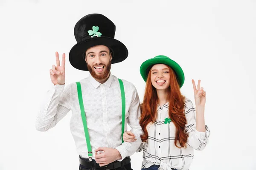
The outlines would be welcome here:
M 187 147 L 175 146 L 176 127 L 169 119 L 169 105 L 158 105 L 157 120 L 148 124 L 148 140 L 144 142 L 138 151 L 143 149 L 142 168 L 148 168 L 153 164 L 160 165 L 158 170 L 188 170 L 193 158 L 194 149 L 203 150 L 207 144 L 210 131 L 206 126 L 206 132 L 196 130 L 196 113 L 192 102 L 185 99 L 185 116 L 187 124 L 186 133 L 189 134 Z

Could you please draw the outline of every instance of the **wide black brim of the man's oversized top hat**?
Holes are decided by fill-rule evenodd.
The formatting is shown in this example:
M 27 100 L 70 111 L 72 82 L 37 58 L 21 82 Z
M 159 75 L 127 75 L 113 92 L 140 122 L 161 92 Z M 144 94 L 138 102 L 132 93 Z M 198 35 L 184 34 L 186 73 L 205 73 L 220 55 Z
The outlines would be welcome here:
M 83 54 L 88 48 L 96 45 L 105 45 L 111 49 L 113 52 L 111 64 L 122 62 L 128 57 L 128 50 L 122 42 L 110 37 L 93 37 L 81 41 L 71 48 L 69 53 L 70 64 L 79 70 L 88 71 Z

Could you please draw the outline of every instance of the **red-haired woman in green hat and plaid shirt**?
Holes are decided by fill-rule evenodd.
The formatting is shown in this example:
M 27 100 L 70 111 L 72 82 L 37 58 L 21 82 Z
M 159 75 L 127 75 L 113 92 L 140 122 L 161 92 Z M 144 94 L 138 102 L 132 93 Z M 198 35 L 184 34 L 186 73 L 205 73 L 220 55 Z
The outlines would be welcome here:
M 192 102 L 180 93 L 184 83 L 180 65 L 166 56 L 143 62 L 140 74 L 146 82 L 140 117 L 144 131 L 142 170 L 188 170 L 194 149 L 203 150 L 209 138 L 204 123 L 206 92 L 200 80 L 198 88 L 192 80 L 195 111 Z M 136 140 L 131 131 L 125 132 L 123 139 Z

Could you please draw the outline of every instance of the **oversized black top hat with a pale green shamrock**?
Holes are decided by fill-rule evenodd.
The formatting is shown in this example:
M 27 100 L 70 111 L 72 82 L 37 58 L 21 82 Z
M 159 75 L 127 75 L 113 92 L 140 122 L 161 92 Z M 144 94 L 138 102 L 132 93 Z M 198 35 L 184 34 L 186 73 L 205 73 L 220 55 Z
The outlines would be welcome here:
M 77 44 L 69 53 L 70 64 L 79 70 L 88 71 L 84 52 L 95 45 L 105 45 L 112 51 L 111 63 L 122 62 L 128 56 L 125 45 L 114 39 L 116 26 L 102 14 L 88 14 L 82 17 L 74 28 Z

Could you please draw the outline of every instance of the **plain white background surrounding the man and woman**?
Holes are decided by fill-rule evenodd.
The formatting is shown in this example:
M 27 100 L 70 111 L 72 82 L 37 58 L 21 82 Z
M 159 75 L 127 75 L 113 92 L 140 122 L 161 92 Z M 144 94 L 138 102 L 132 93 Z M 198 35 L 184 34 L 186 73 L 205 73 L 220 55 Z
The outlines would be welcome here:
M 183 95 L 193 100 L 191 79 L 207 91 L 209 144 L 195 151 L 191 170 L 255 170 L 255 0 L 0 0 L 0 170 L 78 170 L 67 114 L 47 132 L 35 117 L 50 82 L 55 51 L 69 54 L 73 28 L 86 14 L 101 13 L 116 25 L 128 58 L 112 74 L 126 79 L 143 99 L 140 64 L 166 55 L 183 68 Z M 67 58 L 66 83 L 87 77 Z M 131 156 L 140 170 L 142 153 Z

